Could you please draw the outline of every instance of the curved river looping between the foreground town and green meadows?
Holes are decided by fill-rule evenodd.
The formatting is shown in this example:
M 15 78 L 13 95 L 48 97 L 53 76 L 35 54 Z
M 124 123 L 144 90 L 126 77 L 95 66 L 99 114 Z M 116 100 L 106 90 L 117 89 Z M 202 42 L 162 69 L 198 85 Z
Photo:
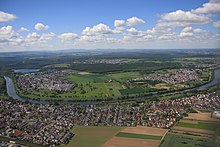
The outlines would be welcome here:
M 51 103 L 50 101 L 32 100 L 32 99 L 27 99 L 27 98 L 20 97 L 19 95 L 17 95 L 17 92 L 15 90 L 14 83 L 13 83 L 12 79 L 9 78 L 9 77 L 6 77 L 6 76 L 4 78 L 5 78 L 5 81 L 6 81 L 7 93 L 13 99 L 17 99 L 17 100 L 20 100 L 20 101 L 23 101 L 23 102 L 28 101 L 30 103 L 35 103 L 35 104 L 49 104 L 49 103 Z M 211 86 L 214 86 L 218 83 L 220 83 L 220 68 L 215 69 L 213 80 L 209 83 L 206 83 L 204 85 L 201 85 L 199 87 L 192 88 L 192 89 L 187 89 L 187 90 L 178 91 L 178 92 L 170 92 L 170 93 L 165 93 L 165 94 L 159 94 L 159 95 L 155 95 L 155 96 L 164 96 L 164 95 L 169 95 L 169 94 L 174 94 L 174 93 L 187 92 L 187 91 L 190 91 L 190 90 L 204 90 L 204 89 L 209 88 Z M 146 98 L 148 98 L 148 97 L 137 97 L 137 98 L 127 99 L 127 100 L 144 100 Z M 123 100 L 115 99 L 115 100 L 103 101 L 103 102 L 120 102 L 120 101 L 123 101 Z M 76 101 L 55 101 L 55 102 L 63 103 L 63 104 L 66 103 L 66 104 L 93 105 L 93 104 L 96 104 L 96 103 L 100 103 L 102 101 L 98 101 L 98 102 L 97 101 L 81 101 L 81 102 L 76 102 Z

